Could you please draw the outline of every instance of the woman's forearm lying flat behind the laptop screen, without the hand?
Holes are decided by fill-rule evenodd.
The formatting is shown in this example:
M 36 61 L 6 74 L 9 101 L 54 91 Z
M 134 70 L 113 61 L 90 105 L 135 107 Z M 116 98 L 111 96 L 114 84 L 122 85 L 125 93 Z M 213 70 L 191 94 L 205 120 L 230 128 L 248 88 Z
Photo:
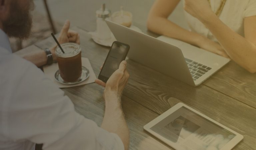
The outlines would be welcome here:
M 149 16 L 147 27 L 157 34 L 175 38 L 199 47 L 199 41 L 204 37 L 198 33 L 190 32 L 167 18 L 160 16 Z

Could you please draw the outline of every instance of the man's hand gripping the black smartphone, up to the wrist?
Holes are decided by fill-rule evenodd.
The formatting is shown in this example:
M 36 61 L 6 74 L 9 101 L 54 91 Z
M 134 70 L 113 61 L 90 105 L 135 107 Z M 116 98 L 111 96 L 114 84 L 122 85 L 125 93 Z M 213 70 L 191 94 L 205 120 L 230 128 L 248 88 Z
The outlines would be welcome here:
M 108 96 L 108 94 L 114 94 L 118 97 L 121 97 L 122 91 L 125 87 L 125 85 L 128 82 L 129 73 L 126 70 L 127 62 L 122 61 L 119 65 L 119 68 L 110 76 L 107 83 L 104 83 L 103 81 L 96 79 L 95 83 L 104 86 L 104 96 Z

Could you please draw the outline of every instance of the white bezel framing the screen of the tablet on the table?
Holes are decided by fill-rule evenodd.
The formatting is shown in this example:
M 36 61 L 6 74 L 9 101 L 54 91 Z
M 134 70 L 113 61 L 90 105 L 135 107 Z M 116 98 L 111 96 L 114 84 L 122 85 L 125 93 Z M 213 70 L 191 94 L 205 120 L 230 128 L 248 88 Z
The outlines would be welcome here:
M 207 117 L 206 115 L 194 110 L 193 108 L 183 104 L 183 103 L 178 103 L 175 106 L 173 106 L 172 108 L 170 108 L 169 110 L 167 110 L 166 112 L 164 112 L 163 114 L 161 114 L 160 116 L 158 116 L 157 118 L 155 118 L 154 120 L 152 120 L 151 122 L 149 122 L 148 124 L 146 124 L 143 128 L 144 130 L 148 131 L 149 133 L 151 133 L 152 135 L 154 135 L 155 137 L 157 137 L 158 139 L 160 139 L 161 141 L 163 141 L 164 143 L 168 144 L 169 146 L 175 148 L 175 149 L 180 149 L 180 147 L 178 146 L 178 144 L 166 139 L 165 137 L 161 136 L 160 134 L 156 133 L 155 131 L 151 130 L 150 128 L 152 128 L 153 126 L 155 126 L 157 123 L 159 123 L 160 121 L 162 121 L 163 119 L 165 119 L 166 117 L 168 117 L 170 114 L 172 114 L 173 112 L 177 111 L 178 109 L 180 109 L 181 107 L 186 107 L 187 109 L 193 111 L 194 113 L 202 116 L 203 118 L 211 121 L 212 123 L 221 126 L 222 128 L 228 130 L 229 132 L 235 134 L 236 136 L 230 140 L 224 147 L 222 147 L 220 150 L 231 150 L 233 147 L 235 147 L 243 138 L 244 136 L 231 130 L 230 128 L 218 123 L 217 121 Z

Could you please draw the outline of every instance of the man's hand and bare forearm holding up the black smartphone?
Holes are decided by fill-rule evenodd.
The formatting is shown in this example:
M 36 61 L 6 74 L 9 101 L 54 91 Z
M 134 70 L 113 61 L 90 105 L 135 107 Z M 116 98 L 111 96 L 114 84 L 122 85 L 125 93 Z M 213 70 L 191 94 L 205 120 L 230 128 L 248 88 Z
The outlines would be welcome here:
M 122 61 L 107 83 L 99 79 L 96 79 L 95 82 L 105 87 L 104 99 L 106 104 L 101 127 L 110 133 L 117 134 L 121 138 L 125 150 L 128 150 L 130 142 L 129 129 L 121 106 L 121 94 L 130 76 L 126 66 L 126 61 Z

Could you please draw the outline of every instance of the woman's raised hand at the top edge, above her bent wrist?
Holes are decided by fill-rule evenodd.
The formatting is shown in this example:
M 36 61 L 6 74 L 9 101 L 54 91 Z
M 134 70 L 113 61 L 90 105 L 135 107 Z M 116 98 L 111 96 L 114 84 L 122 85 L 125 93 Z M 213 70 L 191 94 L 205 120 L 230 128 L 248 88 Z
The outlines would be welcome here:
M 185 0 L 184 10 L 200 21 L 214 14 L 207 0 Z

